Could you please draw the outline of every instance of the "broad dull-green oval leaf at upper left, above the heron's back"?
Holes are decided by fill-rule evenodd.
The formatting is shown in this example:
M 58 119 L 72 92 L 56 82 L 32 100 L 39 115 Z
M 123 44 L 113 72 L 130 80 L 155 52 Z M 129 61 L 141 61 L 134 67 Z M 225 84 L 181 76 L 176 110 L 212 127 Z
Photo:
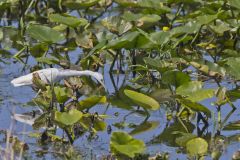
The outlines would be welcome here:
M 30 24 L 27 33 L 32 38 L 46 43 L 57 43 L 65 39 L 63 34 L 44 25 Z

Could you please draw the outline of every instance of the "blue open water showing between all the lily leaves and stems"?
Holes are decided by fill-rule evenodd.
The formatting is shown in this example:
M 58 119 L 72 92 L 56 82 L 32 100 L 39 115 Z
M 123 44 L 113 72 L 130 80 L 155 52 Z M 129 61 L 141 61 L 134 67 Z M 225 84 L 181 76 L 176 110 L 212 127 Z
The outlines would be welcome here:
M 113 5 L 113 8 L 116 7 L 116 4 Z M 113 9 L 114 10 L 114 9 Z M 175 12 L 176 10 L 173 9 Z M 106 12 L 102 15 L 102 18 L 116 15 L 117 11 L 112 11 L 111 13 Z M 76 11 L 72 12 L 72 15 L 78 15 Z M 19 26 L 18 22 L 12 21 L 12 26 Z M 6 22 L 7 25 L 9 25 Z M 1 22 L 1 26 L 6 25 L 5 21 Z M 10 32 L 10 31 L 9 31 Z M 8 32 L 7 32 L 8 33 Z M 6 34 L 7 35 L 7 34 Z M 29 37 L 27 37 L 29 38 Z M 14 55 L 17 50 L 11 48 L 11 44 L 9 39 L 6 39 L 1 43 L 1 47 L 10 47 L 10 52 Z M 78 59 L 79 55 L 83 53 L 82 49 L 77 47 L 76 50 L 69 52 L 70 61 L 75 63 Z M 1 55 L 1 54 L 0 54 Z M 49 54 L 51 55 L 51 54 Z M 123 53 L 124 55 L 124 53 Z M 107 88 L 106 96 L 113 97 L 117 94 L 118 90 L 131 84 L 132 71 L 128 65 L 128 61 L 126 60 L 128 57 L 123 57 L 124 64 L 123 68 L 126 69 L 126 74 L 113 74 L 110 75 L 110 63 L 112 59 L 107 60 L 104 64 L 104 67 L 100 68 L 99 72 L 104 73 L 104 81 Z M 141 58 L 141 57 L 140 57 Z M 108 58 L 107 58 L 108 59 Z M 210 57 L 204 56 L 204 59 L 211 60 Z M 25 60 L 25 59 L 24 59 Z M 26 66 L 24 66 L 19 61 L 14 60 L 13 58 L 4 59 L 8 64 L 3 64 L 0 62 L 0 130 L 9 130 L 11 128 L 13 131 L 13 135 L 16 135 L 20 140 L 25 141 L 29 150 L 24 155 L 29 159 L 60 159 L 59 153 L 66 152 L 63 148 L 59 147 L 62 144 L 39 144 L 36 138 L 29 137 L 28 135 L 31 132 L 43 132 L 44 129 L 33 130 L 31 126 L 15 122 L 11 119 L 11 115 L 13 113 L 25 113 L 32 110 L 37 109 L 36 107 L 26 106 L 26 103 L 31 101 L 34 98 L 36 92 L 32 90 L 31 87 L 13 87 L 10 84 L 10 81 L 21 75 L 27 74 L 30 71 L 30 68 L 36 65 L 36 60 L 29 57 Z M 117 64 L 118 63 L 118 64 Z M 119 66 L 119 62 L 116 62 L 115 68 Z M 59 66 L 57 66 L 59 67 Z M 24 69 L 24 70 L 23 70 Z M 192 68 L 191 68 L 192 69 Z M 111 76 L 113 78 L 111 78 Z M 233 86 L 227 81 L 223 81 L 222 84 L 228 89 L 233 88 Z M 204 88 L 217 88 L 215 82 L 207 81 L 205 82 Z M 81 97 L 85 98 L 85 96 Z M 201 121 L 200 124 L 197 124 L 197 118 L 193 117 L 189 122 L 188 126 L 192 130 L 191 133 L 197 136 L 203 137 L 209 143 L 211 147 L 218 147 L 222 151 L 222 155 L 220 159 L 230 159 L 233 153 L 236 152 L 240 148 L 240 135 L 238 131 L 223 131 L 217 132 L 217 109 L 215 106 L 211 105 L 216 98 L 207 99 L 202 101 L 201 103 L 207 106 L 212 111 L 212 118 L 208 120 L 209 126 L 204 125 Z M 124 101 L 124 100 L 123 100 Z M 230 115 L 230 117 L 226 120 L 225 124 L 229 122 L 236 121 L 239 119 L 239 100 L 234 102 L 234 105 L 237 107 L 236 110 Z M 187 159 L 188 156 L 184 148 L 180 148 L 176 146 L 174 142 L 174 138 L 171 130 L 180 127 L 184 131 L 184 127 L 181 123 L 177 123 L 177 118 L 173 118 L 168 121 L 166 117 L 166 113 L 169 113 L 169 108 L 171 106 L 161 105 L 159 111 L 150 112 L 150 117 L 146 120 L 145 116 L 142 116 L 137 113 L 132 113 L 129 110 L 119 108 L 117 106 L 113 106 L 109 103 L 103 105 L 96 105 L 95 107 L 89 110 L 90 113 L 98 113 L 98 114 L 106 114 L 108 118 L 105 119 L 105 122 L 108 128 L 111 128 L 111 131 L 126 131 L 131 132 L 133 128 L 130 126 L 139 126 L 140 124 L 147 122 L 155 122 L 157 123 L 157 127 L 148 130 L 145 132 L 141 132 L 140 134 L 134 135 L 135 138 L 141 139 L 145 142 L 147 149 L 145 153 L 150 154 L 151 156 L 156 155 L 157 153 L 165 153 L 169 154 L 170 159 Z M 225 117 L 232 111 L 230 105 L 223 105 L 221 107 L 221 117 L 222 121 L 224 121 Z M 174 113 L 173 113 L 174 115 Z M 126 126 L 124 127 L 116 127 L 116 123 L 122 123 Z M 145 124 L 145 123 L 144 123 Z M 185 123 L 186 125 L 186 123 Z M 174 127 L 173 127 L 174 126 Z M 204 128 L 205 127 L 205 128 Z M 169 131 L 170 130 L 170 131 Z M 61 129 L 57 130 L 57 135 L 62 136 L 63 131 Z M 5 147 L 5 141 L 3 140 L 3 135 L 0 135 L 1 146 Z M 83 136 L 79 137 L 76 141 L 74 141 L 73 147 L 74 150 L 83 157 L 83 159 L 101 159 L 103 156 L 107 156 L 110 154 L 109 141 L 110 141 L 111 133 L 107 131 L 98 132 L 97 136 L 94 138 L 89 138 L 90 133 L 86 132 Z M 233 138 L 235 136 L 235 138 Z M 162 138 L 163 137 L 163 138 Z M 211 143 L 216 137 L 220 137 L 222 140 L 216 142 L 216 144 Z M 64 145 L 64 144 L 63 144 Z M 47 151 L 45 154 L 39 154 L 38 151 Z M 211 159 L 211 153 L 208 153 L 206 159 Z

